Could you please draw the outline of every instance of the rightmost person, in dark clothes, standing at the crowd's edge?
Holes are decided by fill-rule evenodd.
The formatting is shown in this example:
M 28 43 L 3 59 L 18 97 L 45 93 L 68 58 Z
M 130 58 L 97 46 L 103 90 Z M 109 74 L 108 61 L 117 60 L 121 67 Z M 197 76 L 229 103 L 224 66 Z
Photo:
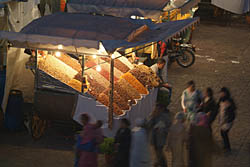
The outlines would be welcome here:
M 220 99 L 218 102 L 218 111 L 219 111 L 219 123 L 221 129 L 221 136 L 224 142 L 224 149 L 227 152 L 231 151 L 230 141 L 228 133 L 233 126 L 235 119 L 236 106 L 234 100 L 231 97 L 230 91 L 228 88 L 223 87 L 220 90 Z

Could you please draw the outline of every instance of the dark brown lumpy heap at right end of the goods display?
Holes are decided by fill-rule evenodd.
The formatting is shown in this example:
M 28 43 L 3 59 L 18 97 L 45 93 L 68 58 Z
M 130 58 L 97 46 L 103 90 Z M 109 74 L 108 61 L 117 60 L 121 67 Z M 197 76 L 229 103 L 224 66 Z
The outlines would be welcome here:
M 150 67 L 145 65 L 136 66 L 134 69 L 130 70 L 129 73 L 131 73 L 145 87 L 157 87 L 160 84 L 160 78 L 152 71 Z

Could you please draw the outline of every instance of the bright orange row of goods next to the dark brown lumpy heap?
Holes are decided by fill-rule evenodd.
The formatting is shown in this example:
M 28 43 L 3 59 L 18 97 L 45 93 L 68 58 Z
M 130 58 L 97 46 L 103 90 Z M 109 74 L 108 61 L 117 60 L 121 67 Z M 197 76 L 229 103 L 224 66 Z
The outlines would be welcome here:
M 148 94 L 147 89 L 141 84 L 131 73 L 127 72 L 121 78 L 125 79 L 131 86 L 133 86 L 140 94 Z

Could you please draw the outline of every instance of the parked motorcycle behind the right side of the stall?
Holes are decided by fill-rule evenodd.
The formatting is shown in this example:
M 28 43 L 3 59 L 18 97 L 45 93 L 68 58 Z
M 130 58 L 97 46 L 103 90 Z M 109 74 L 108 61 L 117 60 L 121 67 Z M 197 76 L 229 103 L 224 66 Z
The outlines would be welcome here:
M 183 68 L 192 66 L 195 62 L 195 46 L 182 43 L 182 38 L 173 38 L 171 47 L 167 49 L 166 55 L 169 63 L 176 61 Z

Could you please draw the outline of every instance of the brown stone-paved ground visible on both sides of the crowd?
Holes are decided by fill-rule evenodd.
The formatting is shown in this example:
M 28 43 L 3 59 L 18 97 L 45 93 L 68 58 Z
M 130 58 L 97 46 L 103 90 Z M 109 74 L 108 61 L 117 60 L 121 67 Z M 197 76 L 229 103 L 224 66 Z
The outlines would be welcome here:
M 214 158 L 214 167 L 250 166 L 250 29 L 249 27 L 220 27 L 200 25 L 194 34 L 197 46 L 196 63 L 183 69 L 171 66 L 169 80 L 174 85 L 171 112 L 180 111 L 180 96 L 185 83 L 194 80 L 198 88 L 210 86 L 218 92 L 222 86 L 231 89 L 238 106 L 237 119 L 230 133 L 233 152 Z M 217 94 L 216 94 L 217 95 Z M 218 125 L 215 139 L 221 145 Z M 25 133 L 0 131 L 0 167 L 70 167 L 74 154 L 73 139 L 65 139 L 67 131 L 47 132 L 38 142 Z M 101 157 L 102 158 L 102 157 Z M 100 160 L 103 162 L 103 160 Z M 101 166 L 104 166 L 103 164 Z

